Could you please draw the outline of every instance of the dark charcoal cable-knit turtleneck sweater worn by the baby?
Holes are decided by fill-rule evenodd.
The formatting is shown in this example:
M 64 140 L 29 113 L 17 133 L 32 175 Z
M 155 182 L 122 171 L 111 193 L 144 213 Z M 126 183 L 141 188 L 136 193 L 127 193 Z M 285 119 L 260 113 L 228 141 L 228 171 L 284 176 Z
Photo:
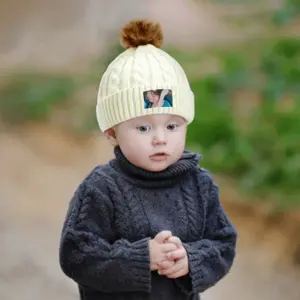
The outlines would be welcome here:
M 162 172 L 116 158 L 79 185 L 63 225 L 60 265 L 81 300 L 195 300 L 230 270 L 237 232 L 217 186 L 184 151 Z M 169 279 L 150 271 L 148 241 L 162 230 L 178 236 L 190 272 Z

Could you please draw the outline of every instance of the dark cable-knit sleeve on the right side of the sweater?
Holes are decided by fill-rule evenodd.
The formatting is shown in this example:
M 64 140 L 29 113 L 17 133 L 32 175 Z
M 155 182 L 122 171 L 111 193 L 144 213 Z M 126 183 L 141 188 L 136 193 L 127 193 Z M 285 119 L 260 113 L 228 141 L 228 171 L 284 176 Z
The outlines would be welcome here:
M 202 184 L 207 190 L 202 197 L 206 207 L 203 239 L 184 244 L 190 272 L 177 280 L 187 293 L 202 293 L 214 286 L 229 272 L 235 258 L 237 232 L 219 201 L 218 187 L 207 175 Z

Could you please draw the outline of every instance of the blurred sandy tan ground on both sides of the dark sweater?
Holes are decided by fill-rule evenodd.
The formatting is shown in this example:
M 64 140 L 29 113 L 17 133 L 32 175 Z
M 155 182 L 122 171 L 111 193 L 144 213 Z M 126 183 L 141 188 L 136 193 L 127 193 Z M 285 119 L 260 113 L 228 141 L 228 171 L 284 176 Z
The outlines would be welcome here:
M 75 140 L 41 126 L 2 132 L 0 144 L 1 299 L 78 299 L 58 266 L 60 229 L 72 192 L 95 164 L 112 157 L 110 146 L 99 136 Z M 204 299 L 299 300 L 300 277 L 281 264 L 284 236 L 262 232 L 261 219 L 247 209 L 227 207 L 240 232 L 237 260 Z

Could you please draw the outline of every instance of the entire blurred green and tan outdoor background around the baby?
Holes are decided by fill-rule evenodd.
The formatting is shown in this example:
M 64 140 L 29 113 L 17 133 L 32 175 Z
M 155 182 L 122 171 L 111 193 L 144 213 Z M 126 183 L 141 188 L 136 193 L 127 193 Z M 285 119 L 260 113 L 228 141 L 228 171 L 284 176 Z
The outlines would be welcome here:
M 0 299 L 78 299 L 60 230 L 80 181 L 113 157 L 98 84 L 121 26 L 147 17 L 188 74 L 188 147 L 239 231 L 232 271 L 203 299 L 299 300 L 299 16 L 299 0 L 2 0 Z

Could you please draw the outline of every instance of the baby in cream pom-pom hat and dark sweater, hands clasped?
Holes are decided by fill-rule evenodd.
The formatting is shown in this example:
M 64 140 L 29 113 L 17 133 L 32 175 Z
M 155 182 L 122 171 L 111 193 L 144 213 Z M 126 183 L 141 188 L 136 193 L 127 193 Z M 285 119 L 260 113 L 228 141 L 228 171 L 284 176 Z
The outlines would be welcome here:
M 59 252 L 81 300 L 196 300 L 235 258 L 218 188 L 185 149 L 194 95 L 162 39 L 159 23 L 130 22 L 101 79 L 97 120 L 115 158 L 75 191 Z M 152 90 L 171 91 L 172 105 L 145 108 Z

